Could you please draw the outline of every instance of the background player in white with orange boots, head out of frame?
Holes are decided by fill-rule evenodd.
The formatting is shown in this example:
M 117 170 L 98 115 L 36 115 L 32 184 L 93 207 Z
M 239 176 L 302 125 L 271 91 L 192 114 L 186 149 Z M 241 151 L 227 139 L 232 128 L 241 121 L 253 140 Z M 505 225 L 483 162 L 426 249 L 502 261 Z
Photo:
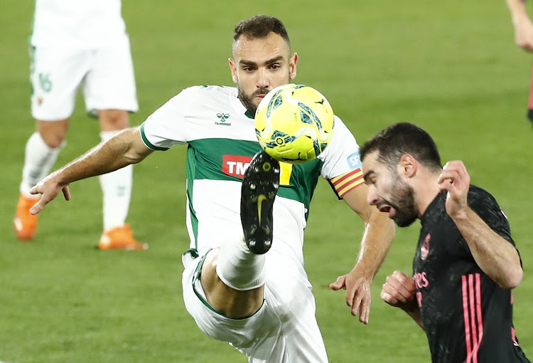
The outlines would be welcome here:
M 14 229 L 21 241 L 35 236 L 32 186 L 45 177 L 65 144 L 77 89 L 99 119 L 102 141 L 129 126 L 138 110 L 129 37 L 120 0 L 36 0 L 31 43 L 31 115 L 36 132 L 26 143 Z M 100 249 L 143 250 L 126 216 L 132 167 L 102 175 L 103 232 Z

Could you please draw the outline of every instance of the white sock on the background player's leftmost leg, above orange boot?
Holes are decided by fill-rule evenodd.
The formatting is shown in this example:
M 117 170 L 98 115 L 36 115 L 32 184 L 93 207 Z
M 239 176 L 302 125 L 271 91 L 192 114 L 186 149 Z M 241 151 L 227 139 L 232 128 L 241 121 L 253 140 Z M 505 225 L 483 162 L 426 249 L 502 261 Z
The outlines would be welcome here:
M 49 147 L 44 142 L 41 134 L 33 132 L 28 142 L 26 142 L 26 154 L 24 155 L 20 186 L 21 194 L 29 198 L 38 198 L 38 196 L 30 194 L 30 189 L 48 175 L 53 164 L 58 159 L 60 149 L 64 145 L 65 142 L 60 147 Z

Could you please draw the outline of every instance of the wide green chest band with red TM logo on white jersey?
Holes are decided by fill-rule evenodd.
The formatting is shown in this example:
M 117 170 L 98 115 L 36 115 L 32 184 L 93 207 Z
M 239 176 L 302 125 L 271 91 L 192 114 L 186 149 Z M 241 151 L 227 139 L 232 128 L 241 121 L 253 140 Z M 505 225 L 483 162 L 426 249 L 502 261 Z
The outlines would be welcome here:
M 244 167 L 261 150 L 258 142 L 230 139 L 202 139 L 189 142 L 187 149 L 187 178 L 192 197 L 196 179 L 241 181 Z M 281 185 L 278 195 L 303 203 L 307 209 L 321 174 L 323 162 L 294 164 L 289 185 Z M 192 201 L 191 201 L 192 202 Z M 191 211 L 193 211 L 191 209 Z

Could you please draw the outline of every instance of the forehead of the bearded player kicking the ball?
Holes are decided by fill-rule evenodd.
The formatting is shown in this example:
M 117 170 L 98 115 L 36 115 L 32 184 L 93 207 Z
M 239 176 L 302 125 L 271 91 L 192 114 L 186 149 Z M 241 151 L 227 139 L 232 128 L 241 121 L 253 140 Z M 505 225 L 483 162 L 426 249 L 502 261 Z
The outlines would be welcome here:
M 233 42 L 233 58 L 239 59 L 252 58 L 274 58 L 283 56 L 289 58 L 289 44 L 284 38 L 276 33 L 269 33 L 264 38 L 249 38 L 241 36 Z

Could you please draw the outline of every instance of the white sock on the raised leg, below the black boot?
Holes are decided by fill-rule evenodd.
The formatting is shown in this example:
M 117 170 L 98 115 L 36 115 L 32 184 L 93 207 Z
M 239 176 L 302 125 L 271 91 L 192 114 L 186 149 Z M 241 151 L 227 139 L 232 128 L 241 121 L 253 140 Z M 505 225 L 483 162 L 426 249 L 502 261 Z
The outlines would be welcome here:
M 252 253 L 244 239 L 229 241 L 220 246 L 217 275 L 235 290 L 252 290 L 264 285 L 266 255 Z

